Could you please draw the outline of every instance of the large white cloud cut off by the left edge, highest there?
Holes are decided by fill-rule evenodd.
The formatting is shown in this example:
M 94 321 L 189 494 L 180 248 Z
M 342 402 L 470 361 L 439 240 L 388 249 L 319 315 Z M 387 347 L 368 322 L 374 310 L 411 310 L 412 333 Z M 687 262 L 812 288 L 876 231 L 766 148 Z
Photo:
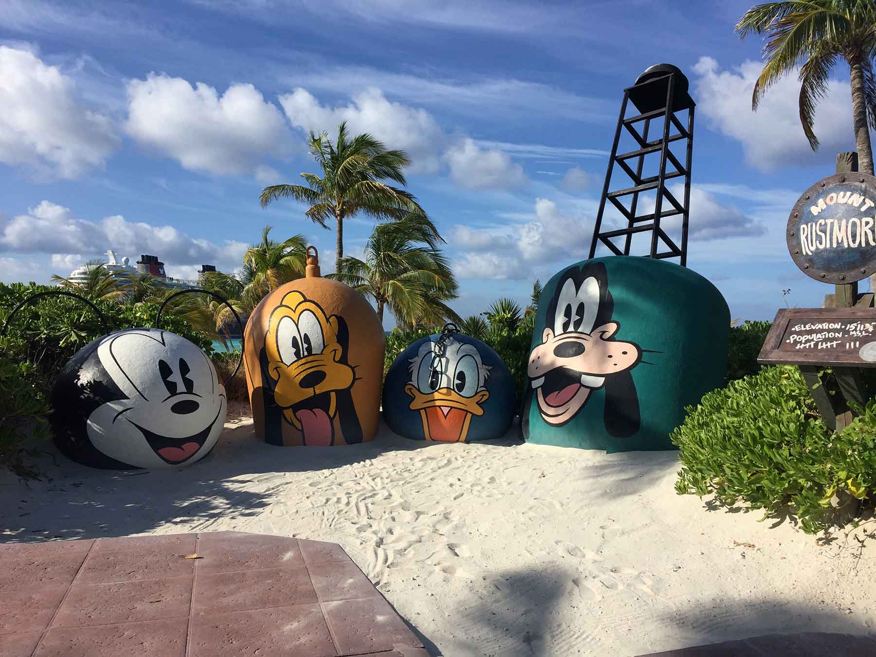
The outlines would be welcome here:
M 78 101 L 74 82 L 34 53 L 0 46 L 0 162 L 73 179 L 119 145 L 109 117 Z

